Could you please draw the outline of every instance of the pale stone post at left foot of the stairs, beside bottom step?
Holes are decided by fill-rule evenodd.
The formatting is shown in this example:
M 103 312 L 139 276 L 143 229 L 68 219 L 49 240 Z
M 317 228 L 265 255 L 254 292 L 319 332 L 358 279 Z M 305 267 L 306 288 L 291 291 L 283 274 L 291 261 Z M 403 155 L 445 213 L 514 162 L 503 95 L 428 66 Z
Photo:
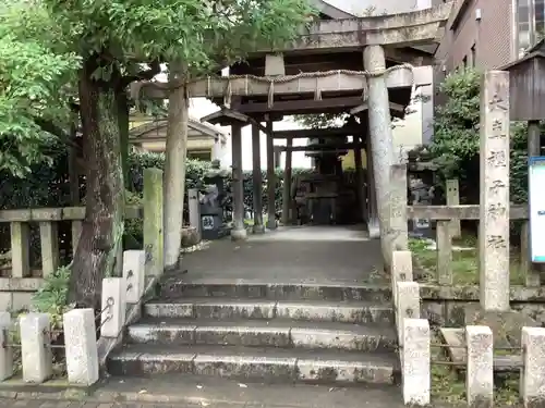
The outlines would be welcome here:
M 74 309 L 62 317 L 70 384 L 92 385 L 99 379 L 95 310 Z

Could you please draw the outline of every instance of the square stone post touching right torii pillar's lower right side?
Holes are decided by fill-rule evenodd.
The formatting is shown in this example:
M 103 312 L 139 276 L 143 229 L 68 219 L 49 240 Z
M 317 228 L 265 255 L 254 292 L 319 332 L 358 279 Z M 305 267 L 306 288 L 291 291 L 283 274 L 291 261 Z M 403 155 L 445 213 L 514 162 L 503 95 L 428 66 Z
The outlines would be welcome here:
M 389 202 L 389 243 L 388 264 L 391 265 L 391 252 L 409 249 L 409 232 L 407 222 L 407 165 L 393 164 L 390 168 L 390 202 Z

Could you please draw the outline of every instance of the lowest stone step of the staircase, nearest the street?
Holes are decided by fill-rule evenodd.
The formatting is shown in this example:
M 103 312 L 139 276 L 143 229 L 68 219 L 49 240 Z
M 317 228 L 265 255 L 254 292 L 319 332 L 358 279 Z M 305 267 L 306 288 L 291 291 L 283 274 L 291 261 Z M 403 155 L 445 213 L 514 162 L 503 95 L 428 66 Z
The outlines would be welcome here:
M 108 359 L 112 375 L 191 373 L 263 382 L 392 384 L 395 353 L 281 348 L 129 345 Z

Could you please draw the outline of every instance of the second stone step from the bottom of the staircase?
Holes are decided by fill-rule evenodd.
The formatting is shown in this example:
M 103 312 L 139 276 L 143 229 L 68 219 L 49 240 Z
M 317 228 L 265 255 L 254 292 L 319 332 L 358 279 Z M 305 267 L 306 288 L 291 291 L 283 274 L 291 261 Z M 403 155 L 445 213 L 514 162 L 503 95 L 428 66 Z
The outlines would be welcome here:
M 148 319 L 128 327 L 129 343 L 395 350 L 392 326 L 274 320 Z

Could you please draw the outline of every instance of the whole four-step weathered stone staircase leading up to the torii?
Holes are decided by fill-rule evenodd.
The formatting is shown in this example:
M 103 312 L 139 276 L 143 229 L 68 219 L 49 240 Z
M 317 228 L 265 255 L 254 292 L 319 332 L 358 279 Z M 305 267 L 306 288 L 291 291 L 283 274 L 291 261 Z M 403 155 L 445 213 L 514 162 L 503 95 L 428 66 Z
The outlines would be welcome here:
M 240 381 L 395 384 L 388 286 L 167 279 L 128 327 L 112 375 L 189 373 Z

